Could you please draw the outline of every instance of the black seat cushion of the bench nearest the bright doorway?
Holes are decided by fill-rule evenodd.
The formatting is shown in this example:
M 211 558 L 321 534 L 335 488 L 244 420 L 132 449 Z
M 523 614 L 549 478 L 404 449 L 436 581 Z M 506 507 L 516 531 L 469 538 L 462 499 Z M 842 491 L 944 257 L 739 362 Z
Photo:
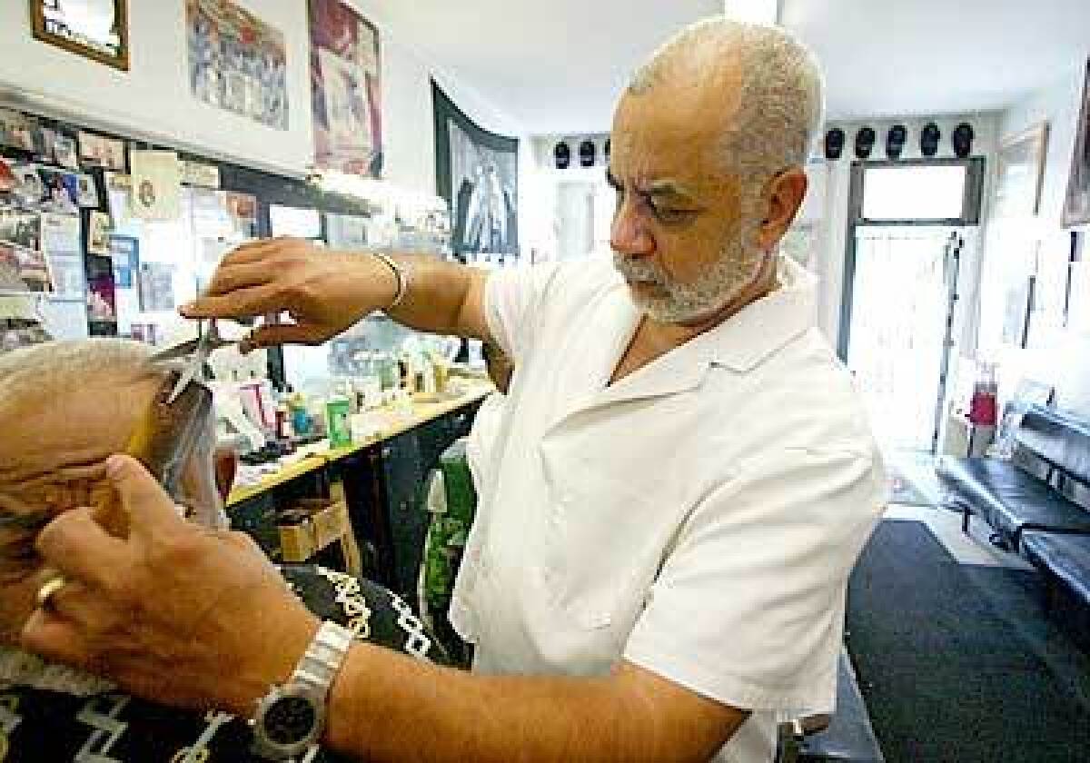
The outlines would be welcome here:
M 1024 530 L 1090 533 L 1090 511 L 1010 461 L 944 456 L 935 472 L 944 502 L 980 516 L 1016 549 Z

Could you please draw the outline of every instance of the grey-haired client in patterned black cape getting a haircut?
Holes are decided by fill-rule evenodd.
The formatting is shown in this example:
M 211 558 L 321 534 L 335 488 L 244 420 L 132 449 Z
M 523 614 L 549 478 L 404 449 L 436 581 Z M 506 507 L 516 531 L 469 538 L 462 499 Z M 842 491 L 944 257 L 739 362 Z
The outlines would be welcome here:
M 214 475 L 207 393 L 190 388 L 177 413 L 164 415 L 158 399 L 174 378 L 169 368 L 149 363 L 150 352 L 136 342 L 99 339 L 0 354 L 0 761 L 5 763 L 264 760 L 242 719 L 141 701 L 109 680 L 19 645 L 27 618 L 57 589 L 57 570 L 35 550 L 38 533 L 55 517 L 84 506 L 95 507 L 105 524 L 117 523 L 119 518 L 108 517 L 114 501 L 105 461 L 119 450 L 138 455 L 164 475 L 173 499 L 192 507 L 184 513 L 202 529 L 194 532 L 254 556 L 249 538 L 220 532 L 226 516 Z M 397 606 L 408 607 L 390 592 L 311 565 L 276 570 L 259 557 L 257 562 L 270 584 L 291 591 L 296 607 L 344 626 L 354 622 L 372 643 L 401 650 L 411 639 L 419 655 L 441 658 L 426 637 L 399 625 Z M 251 623 L 238 635 L 245 639 L 259 627 Z M 344 759 L 315 748 L 308 760 Z

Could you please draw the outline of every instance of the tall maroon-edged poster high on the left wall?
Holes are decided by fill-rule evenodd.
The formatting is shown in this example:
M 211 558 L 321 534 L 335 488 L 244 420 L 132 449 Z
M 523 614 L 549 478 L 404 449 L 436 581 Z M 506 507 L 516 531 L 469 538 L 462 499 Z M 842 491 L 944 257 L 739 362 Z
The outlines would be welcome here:
M 311 0 L 310 9 L 314 164 L 319 169 L 379 178 L 378 29 L 342 0 Z

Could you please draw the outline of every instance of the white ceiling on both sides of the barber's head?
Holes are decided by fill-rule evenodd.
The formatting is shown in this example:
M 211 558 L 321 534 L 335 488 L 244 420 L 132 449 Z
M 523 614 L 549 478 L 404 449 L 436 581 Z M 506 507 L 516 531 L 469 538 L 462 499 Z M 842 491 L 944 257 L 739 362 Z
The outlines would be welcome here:
M 529 134 L 604 132 L 630 72 L 722 0 L 413 0 L 403 39 Z M 1088 0 L 783 0 L 821 59 L 828 117 L 991 111 L 1090 53 Z M 457 29 L 451 34 L 452 29 Z

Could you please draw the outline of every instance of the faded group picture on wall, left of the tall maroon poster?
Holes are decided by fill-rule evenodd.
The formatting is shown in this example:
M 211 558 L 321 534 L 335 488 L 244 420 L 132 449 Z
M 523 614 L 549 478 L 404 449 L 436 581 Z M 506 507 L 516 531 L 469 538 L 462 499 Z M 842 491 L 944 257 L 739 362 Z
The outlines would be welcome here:
M 230 0 L 186 0 L 185 27 L 194 97 L 287 130 L 283 33 Z

